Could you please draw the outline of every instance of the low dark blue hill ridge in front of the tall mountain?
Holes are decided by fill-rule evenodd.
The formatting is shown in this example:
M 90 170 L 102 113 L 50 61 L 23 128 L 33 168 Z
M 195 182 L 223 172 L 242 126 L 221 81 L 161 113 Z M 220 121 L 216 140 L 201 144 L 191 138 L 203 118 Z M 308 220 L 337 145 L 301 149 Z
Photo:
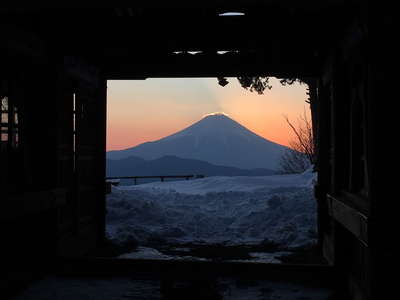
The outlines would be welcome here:
M 154 160 L 144 160 L 134 156 L 120 160 L 107 160 L 107 177 L 191 174 L 205 176 L 266 176 L 274 174 L 274 171 L 268 169 L 243 170 L 172 155 Z

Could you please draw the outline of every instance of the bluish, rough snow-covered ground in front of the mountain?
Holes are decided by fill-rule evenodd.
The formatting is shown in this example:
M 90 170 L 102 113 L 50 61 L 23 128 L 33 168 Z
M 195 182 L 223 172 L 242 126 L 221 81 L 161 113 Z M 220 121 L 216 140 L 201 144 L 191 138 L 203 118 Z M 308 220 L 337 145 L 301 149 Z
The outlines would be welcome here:
M 315 173 L 208 177 L 113 187 L 107 235 L 117 243 L 257 245 L 316 241 Z

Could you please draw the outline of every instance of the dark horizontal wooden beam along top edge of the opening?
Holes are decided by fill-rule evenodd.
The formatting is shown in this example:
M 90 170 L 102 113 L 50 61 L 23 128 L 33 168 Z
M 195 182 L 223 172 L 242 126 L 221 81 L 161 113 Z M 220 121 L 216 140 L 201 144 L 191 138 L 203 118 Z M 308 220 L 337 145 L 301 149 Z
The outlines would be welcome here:
M 262 53 L 261 53 L 262 54 Z M 107 79 L 136 79 L 148 77 L 238 77 L 275 76 L 317 77 L 319 60 L 308 57 L 303 61 L 272 59 L 260 53 L 231 55 L 169 55 L 126 60 L 109 58 L 104 62 Z

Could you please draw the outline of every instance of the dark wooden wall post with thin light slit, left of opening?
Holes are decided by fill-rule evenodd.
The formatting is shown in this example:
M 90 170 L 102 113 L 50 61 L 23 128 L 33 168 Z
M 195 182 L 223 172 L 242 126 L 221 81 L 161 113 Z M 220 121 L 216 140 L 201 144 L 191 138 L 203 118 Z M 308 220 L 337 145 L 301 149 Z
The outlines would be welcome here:
M 61 208 L 66 232 L 59 251 L 79 256 L 105 240 L 107 86 L 105 79 L 92 72 L 94 67 L 82 60 L 65 59 L 63 66 L 66 86 L 59 96 L 59 165 L 63 166 L 59 184 L 69 195 Z M 71 221 L 73 230 L 69 229 Z

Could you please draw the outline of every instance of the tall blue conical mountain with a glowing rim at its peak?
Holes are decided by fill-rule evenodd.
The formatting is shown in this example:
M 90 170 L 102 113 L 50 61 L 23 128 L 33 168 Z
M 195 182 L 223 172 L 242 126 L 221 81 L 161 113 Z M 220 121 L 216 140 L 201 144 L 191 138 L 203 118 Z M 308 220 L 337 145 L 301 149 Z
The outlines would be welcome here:
M 242 169 L 276 170 L 285 146 L 271 142 L 223 113 L 206 115 L 193 125 L 154 142 L 110 151 L 108 159 L 137 156 L 157 159 L 165 155 L 197 159 Z

